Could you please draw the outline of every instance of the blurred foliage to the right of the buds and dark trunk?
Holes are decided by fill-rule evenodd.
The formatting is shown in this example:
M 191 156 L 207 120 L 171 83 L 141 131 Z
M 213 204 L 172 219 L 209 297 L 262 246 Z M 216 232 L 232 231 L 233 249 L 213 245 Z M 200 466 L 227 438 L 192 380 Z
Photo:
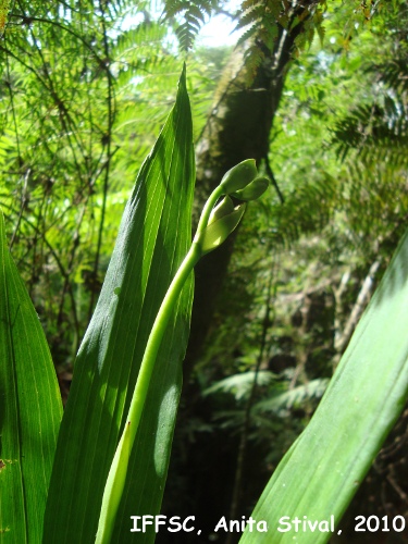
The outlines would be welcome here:
M 245 434 L 240 489 L 254 496 L 261 487 L 259 463 L 265 479 L 310 420 L 407 224 L 407 10 L 404 3 L 395 10 L 382 7 L 381 18 L 358 36 L 342 26 L 344 12 L 331 12 L 324 50 L 314 41 L 293 62 L 269 157 L 284 202 L 274 195 L 249 209 L 195 370 L 190 387 L 193 395 L 195 387 L 205 393 L 197 400 L 202 417 L 183 428 L 191 446 L 184 442 L 181 455 L 199 455 L 212 415 L 213 432 L 227 432 L 234 447 Z M 379 109 L 391 101 L 393 108 Z M 378 109 L 375 128 L 371 118 L 355 122 L 362 108 Z M 358 145 L 346 133 L 350 125 Z M 186 408 L 186 417 L 191 411 Z M 356 505 L 407 512 L 398 487 L 407 474 L 397 447 L 406 436 L 404 421 L 384 450 L 387 461 L 379 459 Z M 236 482 L 228 452 L 223 460 L 221 471 Z M 249 514 L 247 498 L 244 505 Z

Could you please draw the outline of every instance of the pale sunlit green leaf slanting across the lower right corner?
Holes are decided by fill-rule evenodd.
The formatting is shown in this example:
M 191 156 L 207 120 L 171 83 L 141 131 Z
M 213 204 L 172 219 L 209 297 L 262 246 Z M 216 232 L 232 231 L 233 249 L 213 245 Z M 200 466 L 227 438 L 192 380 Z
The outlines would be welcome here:
M 331 533 L 295 533 L 280 519 L 337 524 L 408 397 L 408 232 L 358 324 L 326 393 L 285 455 L 254 512 L 267 533 L 240 540 L 319 544 Z M 287 520 L 286 520 L 287 521 Z

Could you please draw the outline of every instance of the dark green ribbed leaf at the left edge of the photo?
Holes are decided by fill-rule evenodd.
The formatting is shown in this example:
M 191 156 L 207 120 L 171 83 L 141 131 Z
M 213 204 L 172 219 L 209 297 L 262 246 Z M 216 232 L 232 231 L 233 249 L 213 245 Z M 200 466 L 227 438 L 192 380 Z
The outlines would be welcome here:
M 0 210 L 0 542 L 41 541 L 62 403 L 47 341 Z

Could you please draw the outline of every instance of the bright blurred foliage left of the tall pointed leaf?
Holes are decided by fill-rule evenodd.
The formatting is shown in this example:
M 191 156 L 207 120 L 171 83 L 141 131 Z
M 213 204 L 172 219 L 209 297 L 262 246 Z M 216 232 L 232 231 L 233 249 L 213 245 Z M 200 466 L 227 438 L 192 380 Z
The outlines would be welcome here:
M 165 45 L 169 30 L 149 9 L 81 2 L 50 11 L 18 2 L 0 41 L 0 200 L 13 225 L 14 259 L 62 375 L 70 373 L 123 206 L 180 73 L 177 51 Z M 217 57 L 206 72 L 190 63 L 196 131 L 218 71 Z

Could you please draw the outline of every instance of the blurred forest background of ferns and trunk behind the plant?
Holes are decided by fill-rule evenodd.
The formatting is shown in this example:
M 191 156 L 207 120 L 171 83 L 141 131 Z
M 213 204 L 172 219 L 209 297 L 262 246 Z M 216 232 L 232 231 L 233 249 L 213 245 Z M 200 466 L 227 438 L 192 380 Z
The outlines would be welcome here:
M 195 41 L 215 13 L 244 28 L 236 47 Z M 407 34 L 399 0 L 10 5 L 0 205 L 65 399 L 184 58 L 196 208 L 240 160 L 256 158 L 273 181 L 196 273 L 162 511 L 199 515 L 203 542 L 217 540 L 222 516 L 249 516 L 405 232 Z M 350 506 L 345 542 L 357 514 L 407 516 L 407 420 L 405 411 Z

